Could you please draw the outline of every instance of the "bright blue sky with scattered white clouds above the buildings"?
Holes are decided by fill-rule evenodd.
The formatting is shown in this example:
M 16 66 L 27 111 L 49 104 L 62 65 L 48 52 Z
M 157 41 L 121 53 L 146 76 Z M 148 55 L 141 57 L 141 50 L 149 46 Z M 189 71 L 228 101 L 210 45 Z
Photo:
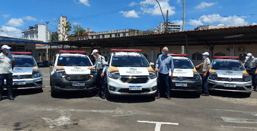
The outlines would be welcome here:
M 182 24 L 183 0 L 158 0 L 169 21 Z M 185 30 L 199 25 L 242 26 L 257 23 L 256 0 L 186 0 Z M 71 24 L 81 24 L 92 31 L 117 29 L 154 29 L 163 22 L 154 0 L 8 0 L 1 1 L 0 32 L 2 36 L 22 37 L 21 31 L 49 21 L 56 31 L 60 15 Z

